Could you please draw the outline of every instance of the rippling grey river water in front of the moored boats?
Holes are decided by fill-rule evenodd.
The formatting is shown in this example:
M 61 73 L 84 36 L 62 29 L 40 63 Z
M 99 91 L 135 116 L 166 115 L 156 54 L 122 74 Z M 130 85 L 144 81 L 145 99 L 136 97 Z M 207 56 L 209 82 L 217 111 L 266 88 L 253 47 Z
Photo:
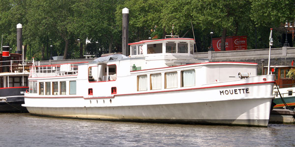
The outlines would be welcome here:
M 126 123 L 0 114 L 1 147 L 290 147 L 294 124 Z

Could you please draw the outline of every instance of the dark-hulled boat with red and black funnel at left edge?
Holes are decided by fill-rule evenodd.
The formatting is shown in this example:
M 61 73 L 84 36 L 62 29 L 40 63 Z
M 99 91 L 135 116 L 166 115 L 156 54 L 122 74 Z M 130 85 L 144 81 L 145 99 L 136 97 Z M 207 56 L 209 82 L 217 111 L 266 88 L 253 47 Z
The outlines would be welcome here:
M 22 54 L 9 53 L 3 46 L 0 53 L 0 112 L 27 112 L 24 93 L 29 89 L 28 76 L 30 61 L 22 60 Z

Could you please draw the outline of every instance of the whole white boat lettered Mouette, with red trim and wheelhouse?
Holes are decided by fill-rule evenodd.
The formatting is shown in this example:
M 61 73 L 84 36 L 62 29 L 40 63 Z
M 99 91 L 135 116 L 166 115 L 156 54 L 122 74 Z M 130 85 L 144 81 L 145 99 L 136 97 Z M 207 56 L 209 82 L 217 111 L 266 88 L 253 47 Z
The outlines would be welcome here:
M 274 75 L 193 58 L 194 40 L 131 43 L 131 55 L 30 69 L 29 113 L 131 122 L 267 126 Z

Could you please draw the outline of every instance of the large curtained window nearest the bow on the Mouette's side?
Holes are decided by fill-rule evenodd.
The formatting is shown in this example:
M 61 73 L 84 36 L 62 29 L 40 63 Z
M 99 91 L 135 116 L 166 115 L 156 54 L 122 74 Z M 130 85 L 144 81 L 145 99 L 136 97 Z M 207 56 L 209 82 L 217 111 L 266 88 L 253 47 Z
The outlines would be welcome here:
M 181 87 L 195 86 L 195 70 L 181 71 Z

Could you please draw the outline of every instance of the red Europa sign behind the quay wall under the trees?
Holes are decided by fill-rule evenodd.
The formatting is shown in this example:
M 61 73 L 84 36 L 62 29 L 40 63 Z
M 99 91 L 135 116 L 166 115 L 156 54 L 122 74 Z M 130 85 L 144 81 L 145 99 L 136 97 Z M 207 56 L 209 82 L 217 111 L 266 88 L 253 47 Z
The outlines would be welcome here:
M 212 45 L 215 51 L 221 50 L 221 38 L 213 38 Z M 226 37 L 225 50 L 245 50 L 247 49 L 247 36 Z

